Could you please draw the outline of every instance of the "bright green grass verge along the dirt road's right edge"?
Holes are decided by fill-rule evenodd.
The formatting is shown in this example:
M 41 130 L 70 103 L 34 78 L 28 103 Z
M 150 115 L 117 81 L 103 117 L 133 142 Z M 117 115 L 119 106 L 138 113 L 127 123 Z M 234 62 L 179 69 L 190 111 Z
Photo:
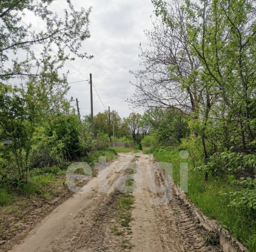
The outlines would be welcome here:
M 150 149 L 146 150 L 147 153 Z M 188 163 L 188 197 L 209 218 L 219 221 L 223 228 L 242 242 L 249 250 L 256 251 L 256 220 L 242 209 L 228 207 L 229 192 L 238 190 L 230 185 L 225 177 L 209 175 L 204 182 L 204 174 L 193 168 L 190 159 L 179 157 L 176 147 L 166 147 L 153 150 L 158 161 L 173 164 L 173 179 L 180 184 L 180 163 Z

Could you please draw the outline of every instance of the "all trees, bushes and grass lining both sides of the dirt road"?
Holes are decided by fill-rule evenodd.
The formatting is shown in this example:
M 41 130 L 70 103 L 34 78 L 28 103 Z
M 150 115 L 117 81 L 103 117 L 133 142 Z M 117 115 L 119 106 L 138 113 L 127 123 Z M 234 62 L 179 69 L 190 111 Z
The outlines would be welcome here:
M 30 218 L 31 209 L 70 196 L 64 177 L 71 163 L 87 162 L 97 176 L 100 156 L 112 161 L 143 149 L 174 164 L 177 184 L 180 163 L 188 162 L 191 201 L 256 251 L 255 1 L 153 0 L 157 18 L 145 31 L 149 48 L 140 46 L 140 70 L 130 71 L 137 82 L 127 100 L 144 114 L 105 110 L 94 116 L 94 132 L 90 115 L 80 119 L 67 98 L 68 72 L 60 74 L 66 62 L 93 57 L 81 52 L 91 8 L 67 1 L 61 19 L 52 1 L 39 2 L 0 2 L 1 239 L 11 239 L 13 221 Z M 42 31 L 22 21 L 27 12 Z M 109 148 L 113 141 L 118 147 Z M 129 194 L 119 198 L 123 227 L 132 203 Z M 9 214 L 16 218 L 10 225 Z

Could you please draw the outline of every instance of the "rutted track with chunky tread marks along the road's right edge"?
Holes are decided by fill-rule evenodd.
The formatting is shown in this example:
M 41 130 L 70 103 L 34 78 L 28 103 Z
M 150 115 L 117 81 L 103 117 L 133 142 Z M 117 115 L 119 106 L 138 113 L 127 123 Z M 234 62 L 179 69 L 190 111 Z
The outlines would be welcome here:
M 167 183 L 165 183 L 165 179 L 168 179 Z M 194 217 L 192 210 L 172 190 L 170 175 L 164 170 L 158 169 L 155 183 L 164 188 L 164 193 L 169 201 L 166 205 L 153 207 L 158 225 L 161 226 L 160 236 L 165 241 L 164 251 L 222 251 L 219 246 L 204 245 L 204 238 L 209 235 L 209 232 L 200 225 L 200 221 Z M 171 197 L 168 195 L 170 190 L 172 191 Z M 150 193 L 154 195 L 154 193 Z

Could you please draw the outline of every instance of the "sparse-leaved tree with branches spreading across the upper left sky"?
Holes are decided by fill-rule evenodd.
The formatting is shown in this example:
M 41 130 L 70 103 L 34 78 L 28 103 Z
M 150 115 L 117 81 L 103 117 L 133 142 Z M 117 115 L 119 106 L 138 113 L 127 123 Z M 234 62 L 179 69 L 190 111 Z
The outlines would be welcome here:
M 18 175 L 23 179 L 27 179 L 36 126 L 48 114 L 69 113 L 66 74 L 59 75 L 59 70 L 74 56 L 92 57 L 79 51 L 81 42 L 90 37 L 91 9 L 76 11 L 66 1 L 64 18 L 59 18 L 51 11 L 52 2 L 0 3 L 0 131 L 3 139 L 12 140 Z M 35 31 L 32 24 L 23 22 L 27 12 L 41 20 L 42 31 Z

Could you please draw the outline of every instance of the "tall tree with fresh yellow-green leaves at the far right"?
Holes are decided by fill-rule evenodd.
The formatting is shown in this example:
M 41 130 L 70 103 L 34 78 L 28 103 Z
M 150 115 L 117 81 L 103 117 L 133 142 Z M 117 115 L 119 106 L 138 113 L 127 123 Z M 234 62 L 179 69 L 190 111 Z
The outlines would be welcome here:
M 167 26 L 174 29 L 179 26 L 164 1 L 154 1 L 154 4 L 157 15 L 161 15 Z M 206 94 L 203 144 L 208 141 L 205 130 L 215 103 L 214 109 L 222 109 L 222 114 L 213 111 L 215 116 L 217 114 L 215 119 L 225 120 L 233 136 L 240 135 L 240 143 L 236 142 L 240 150 L 250 152 L 255 146 L 255 106 L 252 104 L 255 104 L 256 86 L 256 17 L 253 1 L 181 1 L 179 10 L 186 20 L 187 34 L 183 38 L 203 70 L 200 72 Z M 205 156 L 207 159 L 207 153 Z

